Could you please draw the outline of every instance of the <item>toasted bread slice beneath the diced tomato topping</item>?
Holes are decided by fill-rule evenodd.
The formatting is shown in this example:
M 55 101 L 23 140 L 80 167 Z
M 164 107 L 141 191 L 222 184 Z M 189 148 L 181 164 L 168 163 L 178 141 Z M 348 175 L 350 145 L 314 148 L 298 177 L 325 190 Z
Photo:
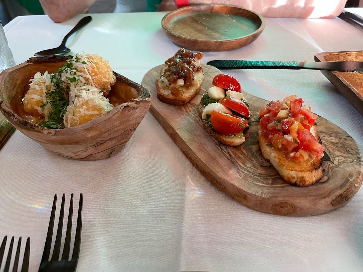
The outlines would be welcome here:
M 321 143 L 317 134 L 316 124 L 311 127 L 310 132 L 314 135 L 315 139 Z M 285 155 L 280 150 L 268 144 L 268 141 L 262 133 L 260 123 L 258 124 L 258 143 L 264 158 L 272 164 L 286 183 L 298 187 L 307 187 L 316 183 L 323 177 L 322 159 L 315 159 L 313 161 L 307 160 L 303 163 L 297 163 L 292 159 L 286 159 Z

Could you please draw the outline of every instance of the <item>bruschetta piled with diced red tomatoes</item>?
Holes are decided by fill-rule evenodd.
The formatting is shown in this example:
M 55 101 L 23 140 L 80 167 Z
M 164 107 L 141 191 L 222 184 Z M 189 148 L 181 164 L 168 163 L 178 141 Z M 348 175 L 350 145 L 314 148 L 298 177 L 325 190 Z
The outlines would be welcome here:
M 271 101 L 259 114 L 262 155 L 291 185 L 306 187 L 323 176 L 324 147 L 317 134 L 317 115 L 296 95 Z

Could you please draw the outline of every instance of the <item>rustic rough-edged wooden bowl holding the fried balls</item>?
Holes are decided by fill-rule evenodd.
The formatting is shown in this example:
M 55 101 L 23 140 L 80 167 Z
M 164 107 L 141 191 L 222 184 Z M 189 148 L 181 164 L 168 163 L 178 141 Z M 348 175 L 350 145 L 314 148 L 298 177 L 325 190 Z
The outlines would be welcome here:
M 150 92 L 114 72 L 116 83 L 110 101 L 118 101 L 110 112 L 82 125 L 66 129 L 45 129 L 26 120 L 21 100 L 36 72 L 54 73 L 66 56 L 35 57 L 0 73 L 0 110 L 21 133 L 67 158 L 101 160 L 117 154 L 144 118 L 151 104 Z

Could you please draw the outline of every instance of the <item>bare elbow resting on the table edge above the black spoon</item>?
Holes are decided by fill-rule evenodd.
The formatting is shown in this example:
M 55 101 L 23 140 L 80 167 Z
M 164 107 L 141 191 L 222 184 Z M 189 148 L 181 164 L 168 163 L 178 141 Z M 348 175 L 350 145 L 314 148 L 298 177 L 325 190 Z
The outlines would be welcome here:
M 96 0 L 39 0 L 44 12 L 56 23 L 85 13 Z

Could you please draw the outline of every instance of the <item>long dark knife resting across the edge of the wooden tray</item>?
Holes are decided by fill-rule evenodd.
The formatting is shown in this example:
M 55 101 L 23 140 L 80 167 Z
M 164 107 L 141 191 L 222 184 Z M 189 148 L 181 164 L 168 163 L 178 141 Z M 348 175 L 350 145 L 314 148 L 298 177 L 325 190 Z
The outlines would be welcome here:
M 260 61 L 260 60 L 211 60 L 208 65 L 219 69 L 307 69 L 326 70 L 339 72 L 363 72 L 363 62 L 339 61 L 339 62 L 289 62 L 289 61 Z

